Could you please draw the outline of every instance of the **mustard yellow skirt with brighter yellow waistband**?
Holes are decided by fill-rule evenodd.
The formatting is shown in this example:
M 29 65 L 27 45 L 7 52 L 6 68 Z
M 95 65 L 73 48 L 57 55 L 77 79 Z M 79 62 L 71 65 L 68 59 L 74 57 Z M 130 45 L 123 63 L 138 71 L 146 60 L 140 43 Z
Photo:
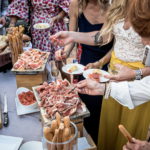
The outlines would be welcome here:
M 115 55 L 112 54 L 111 64 L 112 61 L 113 63 L 118 63 L 119 60 L 116 60 Z M 124 65 L 124 62 L 119 61 L 119 63 Z M 134 69 L 139 68 L 139 66 L 143 68 L 139 62 L 126 64 L 126 66 L 129 65 L 130 68 Z M 113 98 L 103 100 L 98 150 L 122 150 L 127 140 L 119 132 L 119 124 L 123 124 L 133 137 L 145 140 L 150 124 L 150 102 L 142 104 L 133 110 L 129 110 L 127 107 L 120 105 Z

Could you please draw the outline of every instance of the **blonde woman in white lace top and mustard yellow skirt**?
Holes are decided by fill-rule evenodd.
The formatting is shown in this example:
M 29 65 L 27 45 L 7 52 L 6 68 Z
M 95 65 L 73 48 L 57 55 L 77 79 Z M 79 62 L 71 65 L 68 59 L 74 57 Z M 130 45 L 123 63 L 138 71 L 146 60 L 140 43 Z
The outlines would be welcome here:
M 109 41 L 112 35 L 115 37 L 115 44 L 111 54 L 110 71 L 115 70 L 115 64 L 121 64 L 131 69 L 139 70 L 144 68 L 144 45 L 140 36 L 133 30 L 128 21 L 128 11 L 132 0 L 114 0 L 109 10 L 107 23 L 101 36 L 97 32 L 76 33 L 59 32 L 52 36 L 54 43 L 68 44 L 79 42 L 83 44 L 102 44 Z M 105 38 L 109 35 L 109 38 Z M 102 37 L 103 36 L 103 40 Z M 108 37 L 108 36 L 107 36 Z M 106 39 L 106 40 L 105 40 Z M 109 57 L 107 60 L 108 61 Z M 98 64 L 98 62 L 96 62 Z M 105 63 L 105 62 L 104 62 Z M 130 78 L 129 79 L 134 79 Z M 134 110 L 121 106 L 113 98 L 103 100 L 98 149 L 120 150 L 126 140 L 118 130 L 118 125 L 123 124 L 132 136 L 138 139 L 145 139 L 150 123 L 150 102 L 136 107 Z

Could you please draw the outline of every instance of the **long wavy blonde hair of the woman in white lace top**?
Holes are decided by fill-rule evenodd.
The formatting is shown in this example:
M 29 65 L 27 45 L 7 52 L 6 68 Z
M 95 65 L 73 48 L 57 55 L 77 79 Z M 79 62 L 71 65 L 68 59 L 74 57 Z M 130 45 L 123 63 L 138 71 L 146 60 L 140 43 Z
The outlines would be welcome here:
M 107 43 L 111 40 L 113 25 L 128 16 L 128 3 L 129 0 L 113 0 L 107 12 L 106 23 L 100 31 L 101 36 L 109 35 Z

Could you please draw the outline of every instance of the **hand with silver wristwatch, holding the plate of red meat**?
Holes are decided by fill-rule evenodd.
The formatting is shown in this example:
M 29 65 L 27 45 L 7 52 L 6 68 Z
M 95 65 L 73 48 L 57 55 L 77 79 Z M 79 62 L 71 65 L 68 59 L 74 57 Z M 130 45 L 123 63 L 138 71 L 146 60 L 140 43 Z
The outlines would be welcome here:
M 105 77 L 112 81 L 130 81 L 135 79 L 134 70 L 120 64 L 115 65 L 115 68 L 118 72 L 117 74 L 105 75 Z

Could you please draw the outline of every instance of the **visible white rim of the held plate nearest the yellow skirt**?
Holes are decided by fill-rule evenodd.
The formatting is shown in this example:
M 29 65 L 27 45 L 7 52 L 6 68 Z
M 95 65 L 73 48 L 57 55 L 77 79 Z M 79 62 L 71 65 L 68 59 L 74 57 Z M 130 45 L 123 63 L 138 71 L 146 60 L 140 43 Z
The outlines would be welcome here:
M 93 73 L 94 70 L 95 70 L 95 69 L 88 69 L 88 70 L 85 70 L 85 71 L 83 72 L 84 78 L 86 78 L 86 79 L 89 78 L 88 75 L 91 74 L 91 73 Z M 100 69 L 98 69 L 98 70 L 100 70 Z M 103 77 L 104 75 L 109 75 L 109 73 L 106 72 L 106 71 L 104 71 L 104 70 L 100 70 L 100 71 L 101 71 L 101 73 L 102 73 L 102 76 L 100 77 L 100 82 L 107 82 L 107 81 L 109 81 L 109 79 Z

